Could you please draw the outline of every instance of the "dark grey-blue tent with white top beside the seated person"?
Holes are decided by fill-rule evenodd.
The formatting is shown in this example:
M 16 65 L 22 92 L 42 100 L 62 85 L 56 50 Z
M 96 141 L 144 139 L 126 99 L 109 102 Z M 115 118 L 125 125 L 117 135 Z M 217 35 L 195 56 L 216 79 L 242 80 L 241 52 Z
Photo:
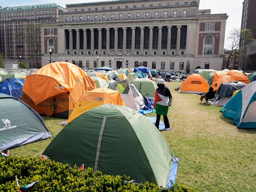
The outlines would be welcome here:
M 224 106 L 231 99 L 233 92 L 245 85 L 244 82 L 240 81 L 222 83 L 218 89 L 216 100 L 213 103 L 217 106 Z

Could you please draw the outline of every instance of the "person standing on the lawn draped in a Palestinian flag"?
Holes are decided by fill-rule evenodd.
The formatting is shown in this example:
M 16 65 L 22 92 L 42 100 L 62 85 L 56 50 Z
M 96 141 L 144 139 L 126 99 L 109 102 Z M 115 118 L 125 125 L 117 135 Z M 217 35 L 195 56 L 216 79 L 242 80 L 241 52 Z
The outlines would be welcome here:
M 159 129 L 160 116 L 163 115 L 163 122 L 165 128 L 170 128 L 169 120 L 167 117 L 169 106 L 171 106 L 172 96 L 170 90 L 165 86 L 165 81 L 161 78 L 157 81 L 154 97 L 154 109 L 156 113 L 155 126 Z

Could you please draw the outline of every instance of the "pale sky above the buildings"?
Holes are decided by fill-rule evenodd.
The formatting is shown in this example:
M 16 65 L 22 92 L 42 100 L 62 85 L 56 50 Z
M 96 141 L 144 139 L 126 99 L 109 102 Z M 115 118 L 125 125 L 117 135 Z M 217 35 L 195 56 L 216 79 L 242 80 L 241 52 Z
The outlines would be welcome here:
M 79 2 L 95 2 L 103 0 L 36 0 L 36 4 L 57 3 L 63 7 L 65 4 Z M 230 47 L 229 32 L 233 28 L 240 28 L 243 0 L 200 0 L 199 9 L 211 9 L 211 13 L 227 13 L 224 48 Z M 34 0 L 0 0 L 0 6 L 32 5 Z

